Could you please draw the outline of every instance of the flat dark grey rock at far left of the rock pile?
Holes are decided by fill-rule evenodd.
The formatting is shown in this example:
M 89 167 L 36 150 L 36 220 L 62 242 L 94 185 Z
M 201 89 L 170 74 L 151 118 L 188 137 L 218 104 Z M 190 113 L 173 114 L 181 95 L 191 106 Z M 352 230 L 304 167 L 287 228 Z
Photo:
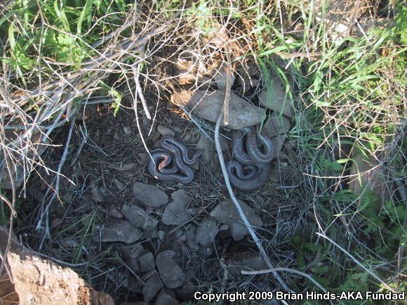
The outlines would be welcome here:
M 142 231 L 136 228 L 130 221 L 119 219 L 114 224 L 102 224 L 100 226 L 102 242 L 124 242 L 132 244 L 140 240 Z

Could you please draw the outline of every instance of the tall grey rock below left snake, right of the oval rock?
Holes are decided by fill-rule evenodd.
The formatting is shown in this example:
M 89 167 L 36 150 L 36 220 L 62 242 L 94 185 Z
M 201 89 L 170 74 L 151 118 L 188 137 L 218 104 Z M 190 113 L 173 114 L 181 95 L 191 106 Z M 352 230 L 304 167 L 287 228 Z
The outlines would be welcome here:
M 176 190 L 171 194 L 171 202 L 166 205 L 162 223 L 166 225 L 179 225 L 189 218 L 187 213 L 188 195 L 186 190 Z

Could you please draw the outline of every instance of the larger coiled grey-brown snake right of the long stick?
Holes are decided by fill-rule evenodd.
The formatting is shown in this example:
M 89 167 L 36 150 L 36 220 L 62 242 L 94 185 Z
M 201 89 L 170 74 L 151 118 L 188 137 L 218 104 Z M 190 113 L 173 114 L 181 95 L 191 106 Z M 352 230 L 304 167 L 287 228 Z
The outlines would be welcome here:
M 276 148 L 269 138 L 258 137 L 255 127 L 233 131 L 232 159 L 226 164 L 230 183 L 237 190 L 258 190 L 269 179 Z M 264 150 L 260 150 L 259 142 Z

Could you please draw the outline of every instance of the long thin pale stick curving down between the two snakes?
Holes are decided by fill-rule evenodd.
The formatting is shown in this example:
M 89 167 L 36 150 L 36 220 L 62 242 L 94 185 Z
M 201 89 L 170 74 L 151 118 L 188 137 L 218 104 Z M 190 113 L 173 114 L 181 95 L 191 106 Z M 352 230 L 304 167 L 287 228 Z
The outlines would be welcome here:
M 223 176 L 225 177 L 227 191 L 229 192 L 230 198 L 232 199 L 232 202 L 234 203 L 234 205 L 237 209 L 237 212 L 239 212 L 241 220 L 243 221 L 248 232 L 250 233 L 251 237 L 253 238 L 256 246 L 260 250 L 260 255 L 261 255 L 262 259 L 266 262 L 266 264 L 267 264 L 267 266 L 269 266 L 269 268 L 274 268 L 271 261 L 269 260 L 269 257 L 267 257 L 265 249 L 263 248 L 260 240 L 258 239 L 257 235 L 253 231 L 251 224 L 248 222 L 247 217 L 243 212 L 243 209 L 241 209 L 239 202 L 237 202 L 237 199 L 234 196 L 234 193 L 232 190 L 232 186 L 230 185 L 229 175 L 227 174 L 227 171 L 226 171 L 225 160 L 223 159 L 222 148 L 220 148 L 220 141 L 219 141 L 219 129 L 220 129 L 220 124 L 222 123 L 222 119 L 223 119 L 223 113 L 222 113 L 222 110 L 220 110 L 220 114 L 219 114 L 218 120 L 216 121 L 216 126 L 215 126 L 215 147 L 216 147 L 216 152 L 218 152 L 220 167 L 222 168 Z M 274 278 L 276 278 L 276 280 L 278 280 L 278 282 L 283 287 L 283 289 L 288 291 L 288 287 L 287 287 L 286 283 L 284 283 L 283 280 L 280 278 L 280 275 L 278 275 L 278 273 L 276 273 L 275 271 L 272 272 L 272 275 L 274 276 Z

